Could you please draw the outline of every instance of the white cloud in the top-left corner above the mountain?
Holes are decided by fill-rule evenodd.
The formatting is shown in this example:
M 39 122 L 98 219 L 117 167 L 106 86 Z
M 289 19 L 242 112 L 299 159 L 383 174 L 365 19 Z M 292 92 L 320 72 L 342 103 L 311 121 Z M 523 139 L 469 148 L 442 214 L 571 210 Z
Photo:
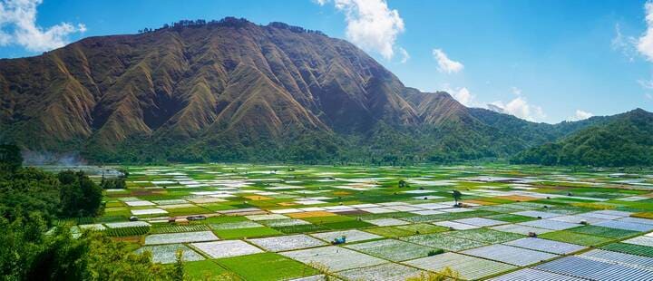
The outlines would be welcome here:
M 86 31 L 84 24 L 61 23 L 48 28 L 36 25 L 36 7 L 42 2 L 0 2 L 0 45 L 19 44 L 33 52 L 49 51 L 67 44 L 69 34 Z

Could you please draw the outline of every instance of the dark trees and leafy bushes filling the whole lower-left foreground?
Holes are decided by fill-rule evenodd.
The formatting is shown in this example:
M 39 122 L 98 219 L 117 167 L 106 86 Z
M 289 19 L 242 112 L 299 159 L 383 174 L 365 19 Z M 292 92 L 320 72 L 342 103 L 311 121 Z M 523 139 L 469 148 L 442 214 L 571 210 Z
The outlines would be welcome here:
M 2 279 L 183 280 L 179 257 L 175 266 L 164 267 L 102 232 L 73 237 L 61 219 L 96 215 L 101 199 L 102 189 L 81 172 L 54 175 L 20 164 L 0 170 Z

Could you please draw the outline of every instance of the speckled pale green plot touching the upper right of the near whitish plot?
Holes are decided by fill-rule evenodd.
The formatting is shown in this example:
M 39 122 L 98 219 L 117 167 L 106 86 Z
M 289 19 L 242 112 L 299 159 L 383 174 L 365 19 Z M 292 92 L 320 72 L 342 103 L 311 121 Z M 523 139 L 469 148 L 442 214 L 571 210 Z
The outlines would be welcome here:
M 424 247 L 395 239 L 357 243 L 354 245 L 347 245 L 346 247 L 371 256 L 383 257 L 392 261 L 404 261 L 418 257 L 426 257 L 429 252 L 438 250 L 434 247 Z

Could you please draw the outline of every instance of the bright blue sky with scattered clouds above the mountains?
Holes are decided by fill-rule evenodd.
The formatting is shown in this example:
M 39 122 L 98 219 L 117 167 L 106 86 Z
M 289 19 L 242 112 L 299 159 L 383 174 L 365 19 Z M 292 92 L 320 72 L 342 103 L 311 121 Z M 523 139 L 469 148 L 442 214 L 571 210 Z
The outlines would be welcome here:
M 647 11 L 644 1 L 16 1 L 0 0 L 2 58 L 231 15 L 347 39 L 407 86 L 446 90 L 470 106 L 492 102 L 524 119 L 653 111 L 653 5 Z M 16 3 L 22 11 L 34 7 L 34 21 L 12 15 Z

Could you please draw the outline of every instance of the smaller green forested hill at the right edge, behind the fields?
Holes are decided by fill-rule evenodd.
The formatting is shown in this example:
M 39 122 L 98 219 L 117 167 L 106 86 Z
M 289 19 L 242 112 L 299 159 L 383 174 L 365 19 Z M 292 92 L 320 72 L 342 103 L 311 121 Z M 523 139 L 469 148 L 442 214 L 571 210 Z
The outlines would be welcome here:
M 653 165 L 653 113 L 637 109 L 576 131 L 562 140 L 521 151 L 516 163 L 545 165 Z

